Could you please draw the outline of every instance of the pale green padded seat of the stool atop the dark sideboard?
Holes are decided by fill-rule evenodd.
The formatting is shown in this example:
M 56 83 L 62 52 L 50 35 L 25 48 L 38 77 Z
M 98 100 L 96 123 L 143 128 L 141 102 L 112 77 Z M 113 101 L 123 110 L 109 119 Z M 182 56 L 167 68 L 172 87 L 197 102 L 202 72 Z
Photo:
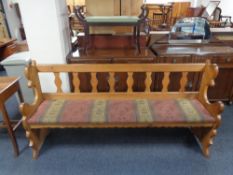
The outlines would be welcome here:
M 137 16 L 87 16 L 87 23 L 137 23 Z

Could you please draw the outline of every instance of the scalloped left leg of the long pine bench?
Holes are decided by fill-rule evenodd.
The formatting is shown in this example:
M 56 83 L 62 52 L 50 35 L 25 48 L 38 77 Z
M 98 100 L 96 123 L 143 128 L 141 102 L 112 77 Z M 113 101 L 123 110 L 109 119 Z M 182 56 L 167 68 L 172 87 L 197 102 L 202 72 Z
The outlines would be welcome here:
M 29 146 L 32 147 L 32 158 L 37 159 L 40 149 L 48 135 L 48 129 L 27 130 L 26 136 L 29 139 Z

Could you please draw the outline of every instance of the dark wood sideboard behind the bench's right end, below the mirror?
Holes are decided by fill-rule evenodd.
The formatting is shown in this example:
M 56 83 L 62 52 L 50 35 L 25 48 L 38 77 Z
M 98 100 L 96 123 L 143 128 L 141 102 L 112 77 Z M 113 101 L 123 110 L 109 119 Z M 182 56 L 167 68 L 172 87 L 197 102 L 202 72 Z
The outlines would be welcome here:
M 154 44 L 151 46 L 151 49 L 158 56 L 159 63 L 204 63 L 207 60 L 210 60 L 211 63 L 216 63 L 219 73 L 215 79 L 215 86 L 208 89 L 208 97 L 211 101 L 233 101 L 233 48 L 222 44 L 210 43 L 208 45 L 192 46 Z M 186 90 L 198 90 L 201 76 L 200 73 L 189 74 Z M 174 79 L 180 81 L 180 75 L 171 74 L 171 82 L 175 82 Z M 161 85 L 157 85 L 157 87 L 161 89 Z M 170 91 L 178 88 L 179 83 L 177 82 L 169 85 Z

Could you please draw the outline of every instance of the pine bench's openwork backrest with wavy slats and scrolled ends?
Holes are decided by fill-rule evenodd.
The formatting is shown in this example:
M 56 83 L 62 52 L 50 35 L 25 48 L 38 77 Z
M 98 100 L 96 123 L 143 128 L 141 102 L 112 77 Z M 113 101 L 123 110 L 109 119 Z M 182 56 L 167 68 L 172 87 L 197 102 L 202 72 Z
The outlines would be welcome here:
M 74 86 L 74 92 L 63 93 L 62 81 L 60 73 L 70 73 L 72 75 L 71 83 Z M 128 74 L 126 83 L 126 92 L 115 91 L 115 73 L 124 72 Z M 146 74 L 145 91 L 134 92 L 133 84 L 134 78 L 133 73 L 143 72 Z M 152 92 L 152 74 L 163 73 L 162 79 L 162 90 L 160 92 Z M 176 80 L 180 83 L 180 88 L 176 92 L 169 92 L 168 85 L 170 82 L 171 73 L 180 72 L 181 78 Z M 39 73 L 53 73 L 54 83 L 57 87 L 56 93 L 42 93 L 39 81 Z M 78 78 L 79 73 L 90 73 L 92 86 L 91 92 L 80 92 L 80 79 Z M 98 79 L 97 73 L 109 73 L 108 84 L 109 92 L 98 92 Z M 188 83 L 189 73 L 200 73 L 202 76 L 201 84 L 198 91 L 186 91 L 186 85 Z M 29 80 L 29 86 L 34 88 L 36 96 L 40 96 L 44 99 L 59 99 L 59 98 L 204 98 L 207 99 L 207 89 L 209 85 L 214 85 L 214 78 L 217 76 L 218 68 L 215 64 L 64 64 L 64 65 L 36 65 L 32 62 L 26 68 L 26 76 Z M 93 95 L 94 94 L 94 95 Z

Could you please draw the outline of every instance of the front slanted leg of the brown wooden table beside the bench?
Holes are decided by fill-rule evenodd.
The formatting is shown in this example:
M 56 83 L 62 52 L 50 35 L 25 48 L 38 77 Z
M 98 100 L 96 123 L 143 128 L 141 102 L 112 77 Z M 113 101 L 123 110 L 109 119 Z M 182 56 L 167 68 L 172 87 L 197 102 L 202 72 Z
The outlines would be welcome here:
M 16 138 L 15 138 L 15 133 L 13 132 L 13 129 L 12 129 L 12 126 L 11 126 L 11 122 L 9 120 L 9 116 L 8 116 L 8 113 L 7 113 L 5 105 L 1 104 L 0 105 L 0 109 L 2 111 L 3 121 L 4 121 L 4 123 L 7 126 L 8 134 L 9 134 L 9 136 L 11 138 L 11 142 L 13 144 L 15 156 L 18 156 L 19 155 L 18 144 L 17 144 Z

